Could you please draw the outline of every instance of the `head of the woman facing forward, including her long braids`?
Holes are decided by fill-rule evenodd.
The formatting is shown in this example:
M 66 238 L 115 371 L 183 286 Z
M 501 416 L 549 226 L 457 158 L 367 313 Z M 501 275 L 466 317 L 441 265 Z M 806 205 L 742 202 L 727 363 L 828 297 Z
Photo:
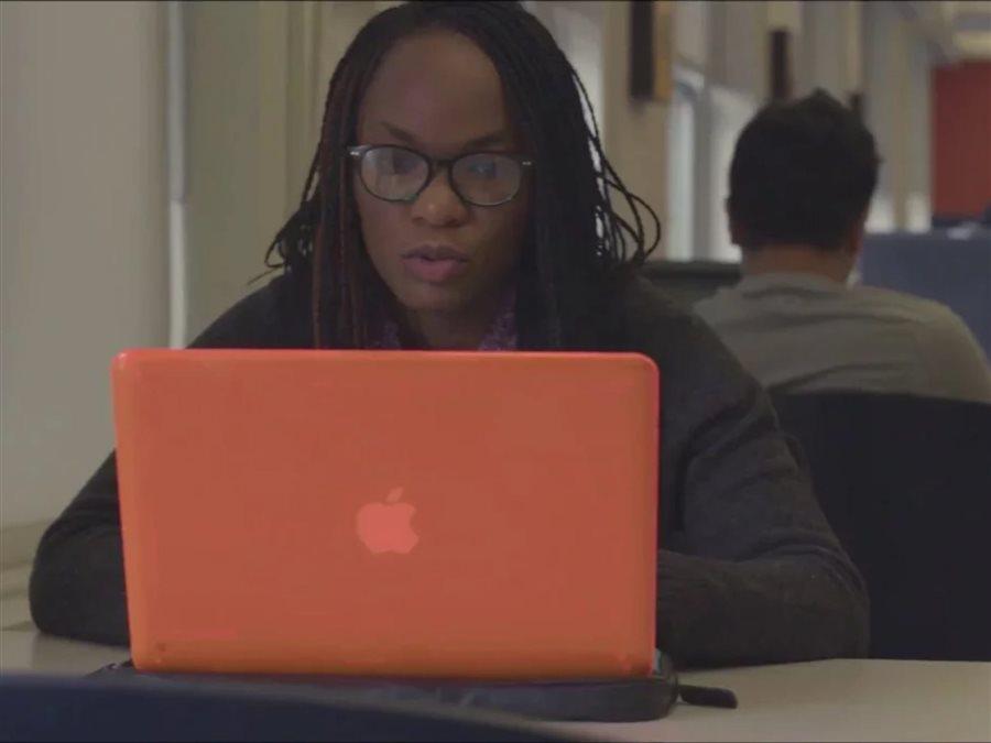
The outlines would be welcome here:
M 519 3 L 413 2 L 372 19 L 334 73 L 301 207 L 269 253 L 290 271 L 312 264 L 316 343 L 364 347 L 383 313 L 414 329 L 437 316 L 484 321 L 511 287 L 521 346 L 593 343 L 609 280 L 652 245 L 586 108 L 571 65 Z M 460 181 L 440 168 L 412 198 L 385 200 L 361 177 L 360 154 L 347 155 L 370 144 L 434 160 L 496 151 L 533 165 L 498 205 L 465 193 L 470 172 L 490 163 Z M 386 154 L 386 177 L 423 162 Z M 610 189 L 630 201 L 634 226 L 612 211 Z M 467 260 L 411 271 L 422 247 Z

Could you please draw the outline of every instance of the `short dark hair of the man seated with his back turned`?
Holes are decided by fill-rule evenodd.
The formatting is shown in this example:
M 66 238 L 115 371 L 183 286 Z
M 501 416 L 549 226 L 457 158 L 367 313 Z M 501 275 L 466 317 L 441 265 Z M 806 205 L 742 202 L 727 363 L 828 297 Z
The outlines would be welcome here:
M 880 165 L 858 116 L 821 89 L 764 107 L 737 141 L 730 219 L 744 250 L 839 247 L 867 212 Z

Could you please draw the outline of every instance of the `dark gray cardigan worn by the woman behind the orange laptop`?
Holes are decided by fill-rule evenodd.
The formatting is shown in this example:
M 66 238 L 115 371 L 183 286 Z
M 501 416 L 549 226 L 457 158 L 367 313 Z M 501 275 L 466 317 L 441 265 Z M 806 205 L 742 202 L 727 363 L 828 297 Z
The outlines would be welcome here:
M 767 396 L 701 320 L 645 280 L 618 306 L 620 337 L 602 350 L 639 351 L 662 370 L 658 647 L 683 666 L 863 655 L 863 580 Z M 307 283 L 283 275 L 193 346 L 308 348 L 311 328 Z M 42 631 L 128 642 L 112 454 L 43 536 L 30 592 Z

